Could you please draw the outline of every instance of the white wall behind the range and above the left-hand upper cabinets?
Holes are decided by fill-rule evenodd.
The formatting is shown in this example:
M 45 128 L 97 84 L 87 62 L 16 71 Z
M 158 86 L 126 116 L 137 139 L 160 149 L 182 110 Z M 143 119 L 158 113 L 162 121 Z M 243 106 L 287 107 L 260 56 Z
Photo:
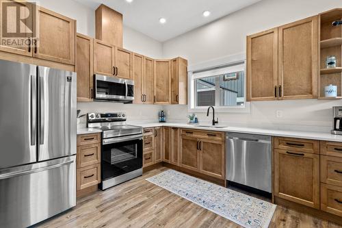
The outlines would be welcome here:
M 95 12 L 86 5 L 73 0 L 41 0 L 39 5 L 77 20 L 77 32 L 95 37 Z M 123 28 L 123 47 L 147 55 L 151 58 L 162 57 L 162 44 L 139 31 L 127 26 Z M 127 112 L 129 121 L 157 121 L 157 112 L 160 105 L 123 105 L 120 103 L 77 103 L 77 109 L 83 114 L 87 112 Z M 82 118 L 81 122 L 84 123 Z

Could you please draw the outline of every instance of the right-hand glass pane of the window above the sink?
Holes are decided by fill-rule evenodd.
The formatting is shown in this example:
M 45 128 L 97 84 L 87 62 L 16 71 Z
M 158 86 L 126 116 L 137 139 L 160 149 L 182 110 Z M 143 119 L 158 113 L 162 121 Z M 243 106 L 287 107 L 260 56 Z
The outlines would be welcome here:
M 244 71 L 220 77 L 220 106 L 244 105 Z

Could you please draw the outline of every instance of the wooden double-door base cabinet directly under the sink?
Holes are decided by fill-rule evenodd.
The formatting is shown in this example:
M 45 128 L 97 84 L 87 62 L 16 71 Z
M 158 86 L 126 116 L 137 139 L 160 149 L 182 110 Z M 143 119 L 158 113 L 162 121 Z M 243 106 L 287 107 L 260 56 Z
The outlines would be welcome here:
M 181 135 L 180 165 L 183 168 L 197 171 L 218 179 L 225 178 L 225 142 L 215 139 L 221 134 L 212 134 L 209 131 L 198 132 L 198 136 Z M 214 137 L 214 138 L 210 138 Z

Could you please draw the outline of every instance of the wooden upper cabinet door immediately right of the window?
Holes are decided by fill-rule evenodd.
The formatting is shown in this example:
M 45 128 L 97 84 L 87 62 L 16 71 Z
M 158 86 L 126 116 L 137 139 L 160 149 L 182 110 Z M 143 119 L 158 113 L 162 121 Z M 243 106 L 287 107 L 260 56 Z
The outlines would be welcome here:
M 278 28 L 247 37 L 247 101 L 273 101 L 278 94 Z

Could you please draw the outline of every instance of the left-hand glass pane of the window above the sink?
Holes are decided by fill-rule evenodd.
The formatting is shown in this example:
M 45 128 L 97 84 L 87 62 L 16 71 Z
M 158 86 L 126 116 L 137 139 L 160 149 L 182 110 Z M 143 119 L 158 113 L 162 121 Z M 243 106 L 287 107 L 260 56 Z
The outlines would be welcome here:
M 215 105 L 216 77 L 196 79 L 197 106 Z

